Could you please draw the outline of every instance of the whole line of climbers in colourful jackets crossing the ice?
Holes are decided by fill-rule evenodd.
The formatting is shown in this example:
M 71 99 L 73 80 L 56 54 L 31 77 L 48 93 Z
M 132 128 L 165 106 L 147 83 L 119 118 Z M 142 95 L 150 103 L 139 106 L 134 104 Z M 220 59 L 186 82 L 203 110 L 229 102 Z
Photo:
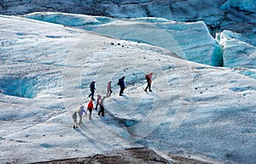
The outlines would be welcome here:
M 148 93 L 148 91 L 152 92 L 152 90 L 151 90 L 152 74 L 153 74 L 153 72 L 151 71 L 150 73 L 148 73 L 145 76 L 145 79 L 147 80 L 147 87 L 144 89 L 144 91 L 147 92 L 147 93 Z M 102 96 L 100 94 L 97 94 L 96 108 L 94 108 L 93 101 L 95 100 L 94 99 L 94 93 L 95 93 L 95 90 L 96 90 L 95 83 L 96 83 L 95 81 L 90 83 L 90 94 L 88 96 L 88 98 L 90 98 L 90 102 L 87 105 L 87 110 L 89 111 L 89 120 L 91 119 L 92 110 L 97 110 L 98 105 L 100 105 L 100 110 L 98 111 L 98 116 L 105 116 L 105 113 L 104 113 L 105 107 L 103 105 L 103 101 L 104 101 L 104 99 L 111 97 L 111 93 L 112 93 L 112 87 L 111 87 L 112 82 L 108 82 L 107 95 L 103 96 L 103 98 L 102 98 Z M 119 96 L 123 96 L 124 91 L 125 91 L 125 76 L 121 77 L 117 84 L 120 87 Z M 83 114 L 87 115 L 87 112 L 84 110 L 84 105 L 81 105 L 79 110 L 75 111 L 72 115 L 72 117 L 73 117 L 73 128 L 77 128 L 77 127 L 80 127 L 82 125 L 82 116 L 83 116 Z M 79 122 L 77 121 L 77 116 L 79 116 Z

